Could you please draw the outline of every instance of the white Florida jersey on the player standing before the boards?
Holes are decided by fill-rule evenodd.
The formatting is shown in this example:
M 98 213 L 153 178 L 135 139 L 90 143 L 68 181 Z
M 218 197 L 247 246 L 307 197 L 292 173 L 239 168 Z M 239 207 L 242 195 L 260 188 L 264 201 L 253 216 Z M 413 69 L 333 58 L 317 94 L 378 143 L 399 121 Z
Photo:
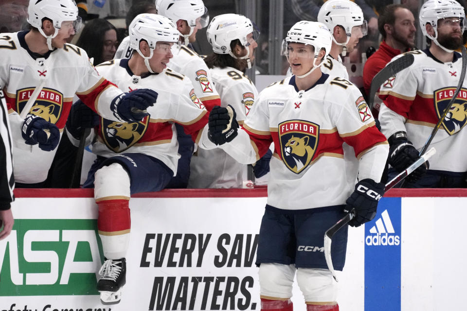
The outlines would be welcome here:
M 345 204 L 355 183 L 346 176 L 344 142 L 359 158 L 359 179 L 377 182 L 389 148 L 358 88 L 327 74 L 307 91 L 298 91 L 295 76 L 265 88 L 243 131 L 221 148 L 252 163 L 272 141 L 268 204 L 282 209 Z

